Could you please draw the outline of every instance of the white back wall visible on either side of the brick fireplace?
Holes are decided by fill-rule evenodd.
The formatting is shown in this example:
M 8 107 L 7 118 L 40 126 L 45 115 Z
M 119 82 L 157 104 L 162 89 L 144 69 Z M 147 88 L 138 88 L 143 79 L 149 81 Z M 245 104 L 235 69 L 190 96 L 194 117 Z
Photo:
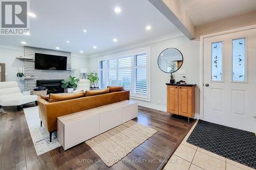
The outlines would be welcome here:
M 17 81 L 19 88 L 24 90 L 24 81 L 16 78 L 17 67 L 24 71 L 24 60 L 16 59 L 17 56 L 24 56 L 24 49 L 2 48 L 0 47 L 0 63 L 5 63 L 6 81 Z M 71 57 L 72 76 L 80 78 L 80 68 L 88 68 L 88 58 L 80 56 Z M 20 71 L 22 71 L 20 70 Z

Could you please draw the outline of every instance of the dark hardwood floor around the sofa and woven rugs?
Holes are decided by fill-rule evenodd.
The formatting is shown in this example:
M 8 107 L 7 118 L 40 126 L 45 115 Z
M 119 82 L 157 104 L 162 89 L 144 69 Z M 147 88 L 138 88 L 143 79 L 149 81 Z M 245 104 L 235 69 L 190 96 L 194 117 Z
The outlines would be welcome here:
M 27 105 L 25 107 L 33 107 Z M 40 156 L 36 155 L 23 110 L 4 107 L 8 114 L 0 115 L 0 169 L 161 169 L 164 160 L 175 152 L 189 129 L 191 119 L 166 112 L 139 107 L 134 121 L 157 130 L 120 162 L 106 166 L 86 143 L 67 151 L 61 147 Z M 39 124 L 39 123 L 38 123 Z

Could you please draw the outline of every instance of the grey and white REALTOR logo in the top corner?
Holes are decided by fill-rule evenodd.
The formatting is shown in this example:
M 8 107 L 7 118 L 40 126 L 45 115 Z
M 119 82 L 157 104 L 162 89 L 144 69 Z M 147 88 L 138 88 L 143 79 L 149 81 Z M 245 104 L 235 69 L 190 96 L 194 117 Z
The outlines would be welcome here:
M 1 35 L 25 35 L 28 31 L 28 1 L 1 0 Z

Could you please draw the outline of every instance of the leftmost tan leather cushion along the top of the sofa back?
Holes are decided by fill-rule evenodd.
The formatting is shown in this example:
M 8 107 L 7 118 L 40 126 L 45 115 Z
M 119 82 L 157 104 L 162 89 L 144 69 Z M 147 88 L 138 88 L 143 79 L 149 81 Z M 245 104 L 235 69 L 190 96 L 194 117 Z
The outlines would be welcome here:
M 77 93 L 71 94 L 49 94 L 49 102 L 58 102 L 58 101 L 65 101 L 70 99 L 82 98 L 84 97 L 84 91 L 80 91 Z

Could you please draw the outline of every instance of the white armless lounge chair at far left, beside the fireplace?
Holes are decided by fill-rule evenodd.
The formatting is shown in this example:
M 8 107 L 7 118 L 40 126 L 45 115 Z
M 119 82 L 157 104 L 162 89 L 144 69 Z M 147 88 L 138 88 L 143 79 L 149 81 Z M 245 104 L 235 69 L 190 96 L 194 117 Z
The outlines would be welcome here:
M 20 92 L 17 82 L 0 82 L 0 108 L 2 106 L 17 106 L 35 102 L 37 105 L 37 95 L 24 95 Z

